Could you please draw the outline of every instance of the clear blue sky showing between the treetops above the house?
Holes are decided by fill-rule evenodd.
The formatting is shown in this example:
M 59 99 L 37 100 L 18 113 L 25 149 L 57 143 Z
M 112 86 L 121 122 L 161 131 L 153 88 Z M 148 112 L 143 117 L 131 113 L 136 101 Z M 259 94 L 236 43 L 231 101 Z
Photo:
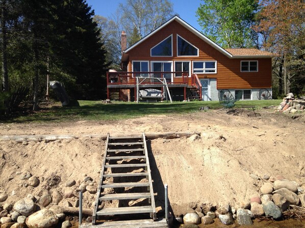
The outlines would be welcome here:
M 196 10 L 198 9 L 200 0 L 172 0 L 174 12 L 193 26 L 198 31 L 201 31 L 197 22 Z M 111 17 L 119 3 L 125 3 L 124 0 L 87 0 L 89 6 L 94 10 L 95 15 Z

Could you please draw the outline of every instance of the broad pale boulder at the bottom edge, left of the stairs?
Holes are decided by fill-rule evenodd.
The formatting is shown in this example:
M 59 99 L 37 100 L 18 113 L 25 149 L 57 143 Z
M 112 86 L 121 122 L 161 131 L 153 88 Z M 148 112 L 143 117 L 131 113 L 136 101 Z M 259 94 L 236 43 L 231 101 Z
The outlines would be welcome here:
M 26 224 L 29 228 L 48 228 L 55 227 L 58 223 L 58 217 L 53 211 L 42 209 L 30 215 Z

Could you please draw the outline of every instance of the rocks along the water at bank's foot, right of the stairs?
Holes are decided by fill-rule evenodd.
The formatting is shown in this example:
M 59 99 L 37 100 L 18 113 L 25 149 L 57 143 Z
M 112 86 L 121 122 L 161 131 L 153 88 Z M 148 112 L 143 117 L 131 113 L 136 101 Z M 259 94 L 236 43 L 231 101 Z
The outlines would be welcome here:
M 291 205 L 305 207 L 305 189 L 296 182 L 286 180 L 283 176 L 270 178 L 270 175 L 265 175 L 262 179 L 256 177 L 257 180 L 253 179 L 264 182 L 258 195 L 243 200 L 239 206 L 232 208 L 230 204 L 217 207 L 192 204 L 183 219 L 177 217 L 177 221 L 182 222 L 183 220 L 185 224 L 194 225 L 201 221 L 206 225 L 213 223 L 214 219 L 218 218 L 226 225 L 234 224 L 235 220 L 240 225 L 252 225 L 252 219 L 255 217 L 267 216 L 272 219 L 280 219 L 283 212 L 289 210 Z

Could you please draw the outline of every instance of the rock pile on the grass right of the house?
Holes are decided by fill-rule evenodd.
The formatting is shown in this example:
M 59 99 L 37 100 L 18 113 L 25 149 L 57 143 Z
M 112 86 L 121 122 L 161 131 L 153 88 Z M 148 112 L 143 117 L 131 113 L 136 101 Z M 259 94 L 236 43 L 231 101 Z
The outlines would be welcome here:
M 294 98 L 293 93 L 289 93 L 283 99 L 283 102 L 279 104 L 278 108 L 279 111 L 283 112 L 291 112 L 295 113 L 297 111 L 305 111 L 305 100 Z

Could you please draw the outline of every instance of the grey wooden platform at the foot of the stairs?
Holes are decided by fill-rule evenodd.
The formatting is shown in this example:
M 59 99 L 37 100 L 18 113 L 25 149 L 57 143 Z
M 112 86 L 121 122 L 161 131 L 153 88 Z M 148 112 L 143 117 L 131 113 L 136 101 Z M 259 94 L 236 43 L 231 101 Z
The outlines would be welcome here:
M 124 227 L 124 228 L 167 228 L 165 219 L 153 221 L 153 219 L 139 219 L 139 220 L 125 220 L 125 221 L 109 221 L 103 223 L 83 223 L 81 228 L 110 228 L 110 227 Z

